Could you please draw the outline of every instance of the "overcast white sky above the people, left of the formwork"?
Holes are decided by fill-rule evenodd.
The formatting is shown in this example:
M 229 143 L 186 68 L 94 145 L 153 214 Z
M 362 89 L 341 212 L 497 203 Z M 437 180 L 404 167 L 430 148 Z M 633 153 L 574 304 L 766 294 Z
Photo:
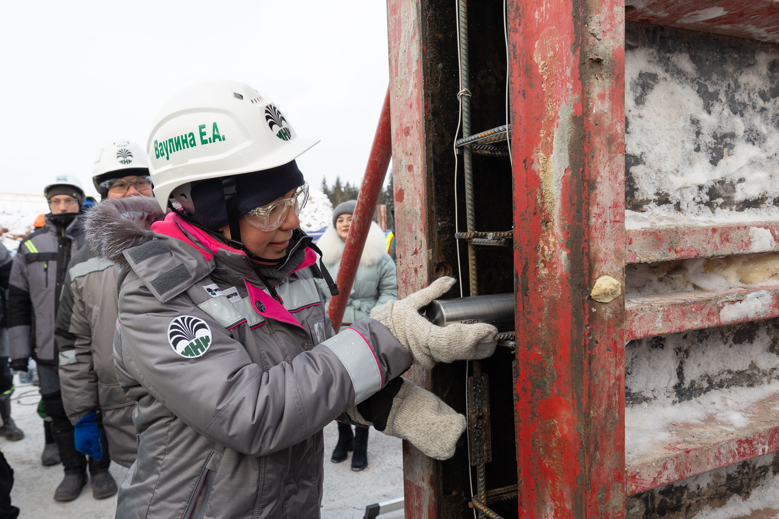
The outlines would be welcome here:
M 69 173 L 90 188 L 97 148 L 146 146 L 172 94 L 235 79 L 298 135 L 309 184 L 360 181 L 389 81 L 383 0 L 0 3 L 2 192 Z

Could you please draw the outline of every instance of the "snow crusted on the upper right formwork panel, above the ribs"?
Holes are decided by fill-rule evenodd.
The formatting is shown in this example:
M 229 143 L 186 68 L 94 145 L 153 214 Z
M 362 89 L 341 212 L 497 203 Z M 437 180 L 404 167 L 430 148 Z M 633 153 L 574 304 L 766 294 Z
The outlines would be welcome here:
M 779 98 L 765 95 L 776 84 L 776 58 L 744 56 L 733 80 L 703 77 L 684 51 L 626 50 L 626 153 L 640 159 L 630 167 L 634 196 L 667 198 L 647 204 L 645 213 L 628 211 L 628 228 L 672 223 L 679 211 L 681 223 L 779 219 Z M 735 211 L 710 200 L 710 188 L 723 186 L 732 187 L 732 203 L 762 201 L 760 209 Z

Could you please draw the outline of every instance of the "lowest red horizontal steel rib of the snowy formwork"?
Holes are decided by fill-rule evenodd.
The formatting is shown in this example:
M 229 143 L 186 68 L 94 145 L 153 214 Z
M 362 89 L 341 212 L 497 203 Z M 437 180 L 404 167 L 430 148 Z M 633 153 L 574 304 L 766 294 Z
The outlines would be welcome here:
M 730 423 L 723 429 L 713 416 L 675 424 L 667 444 L 628 461 L 628 495 L 779 451 L 777 405 L 779 395 L 756 402 L 743 411 L 749 424 L 736 430 Z

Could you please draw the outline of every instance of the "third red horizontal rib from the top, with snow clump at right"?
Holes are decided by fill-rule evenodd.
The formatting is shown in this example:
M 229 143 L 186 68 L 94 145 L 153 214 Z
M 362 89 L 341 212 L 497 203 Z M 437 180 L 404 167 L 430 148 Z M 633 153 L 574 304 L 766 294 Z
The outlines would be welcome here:
M 779 317 L 779 289 L 695 290 L 674 295 L 633 297 L 625 301 L 626 341 L 635 338 L 714 328 L 723 324 Z

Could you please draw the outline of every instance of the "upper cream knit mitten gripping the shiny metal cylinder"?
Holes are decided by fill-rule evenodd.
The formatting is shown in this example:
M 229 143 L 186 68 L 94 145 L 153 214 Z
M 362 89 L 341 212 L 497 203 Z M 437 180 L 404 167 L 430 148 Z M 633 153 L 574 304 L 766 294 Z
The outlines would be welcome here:
M 444 328 L 431 324 L 418 310 L 449 291 L 454 278 L 436 279 L 400 301 L 389 301 L 371 311 L 371 317 L 390 329 L 414 362 L 430 368 L 437 362 L 484 359 L 495 351 L 498 329 L 492 324 L 449 324 Z

